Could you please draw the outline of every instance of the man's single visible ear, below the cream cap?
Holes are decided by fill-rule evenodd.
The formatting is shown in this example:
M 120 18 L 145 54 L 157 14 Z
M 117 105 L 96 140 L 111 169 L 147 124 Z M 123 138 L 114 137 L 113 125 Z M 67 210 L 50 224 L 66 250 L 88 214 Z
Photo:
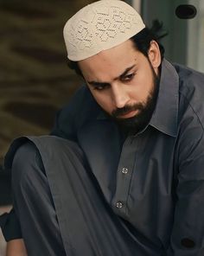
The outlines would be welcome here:
M 152 67 L 155 70 L 157 70 L 158 67 L 160 66 L 161 62 L 162 62 L 162 58 L 161 58 L 161 53 L 160 53 L 158 43 L 154 40 L 152 40 L 150 42 L 150 48 L 149 48 L 149 51 L 148 51 L 148 56 L 149 56 L 149 60 L 150 60 L 150 63 L 152 65 Z

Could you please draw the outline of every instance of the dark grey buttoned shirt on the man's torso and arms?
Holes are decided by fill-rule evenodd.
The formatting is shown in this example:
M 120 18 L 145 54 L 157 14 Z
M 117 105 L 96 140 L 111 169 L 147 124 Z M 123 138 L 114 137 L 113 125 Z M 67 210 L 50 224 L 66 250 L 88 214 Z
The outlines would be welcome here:
M 204 255 L 203 95 L 203 74 L 163 60 L 144 131 L 124 140 L 83 86 L 52 132 L 80 144 L 115 213 L 168 255 Z

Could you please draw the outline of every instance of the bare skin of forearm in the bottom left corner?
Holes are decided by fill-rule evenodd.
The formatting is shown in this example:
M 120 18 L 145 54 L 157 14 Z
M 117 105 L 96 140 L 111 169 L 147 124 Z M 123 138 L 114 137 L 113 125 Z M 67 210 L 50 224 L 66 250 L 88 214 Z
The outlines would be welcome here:
M 6 256 L 28 256 L 23 240 L 10 240 L 7 244 Z

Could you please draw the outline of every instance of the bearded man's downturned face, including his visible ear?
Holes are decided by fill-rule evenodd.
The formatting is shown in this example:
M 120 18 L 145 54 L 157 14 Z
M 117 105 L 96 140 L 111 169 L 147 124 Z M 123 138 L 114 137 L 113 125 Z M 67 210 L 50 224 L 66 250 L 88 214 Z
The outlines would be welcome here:
M 149 58 L 128 40 L 79 61 L 92 96 L 121 125 L 140 126 L 155 107 L 161 57 L 156 42 Z

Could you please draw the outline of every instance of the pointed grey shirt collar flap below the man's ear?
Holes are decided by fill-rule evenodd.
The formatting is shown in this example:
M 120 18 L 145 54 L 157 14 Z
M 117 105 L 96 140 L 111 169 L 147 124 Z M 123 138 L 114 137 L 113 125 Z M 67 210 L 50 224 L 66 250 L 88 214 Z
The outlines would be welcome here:
M 169 61 L 163 60 L 156 109 L 150 125 L 175 137 L 177 133 L 179 77 Z

